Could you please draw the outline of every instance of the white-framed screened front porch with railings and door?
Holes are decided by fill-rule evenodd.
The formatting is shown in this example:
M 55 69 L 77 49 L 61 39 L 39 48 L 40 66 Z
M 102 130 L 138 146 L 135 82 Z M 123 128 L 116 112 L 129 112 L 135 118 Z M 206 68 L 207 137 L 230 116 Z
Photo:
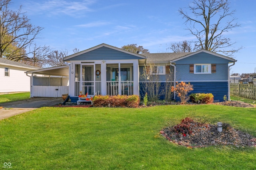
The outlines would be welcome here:
M 133 65 L 133 63 L 75 64 L 74 96 L 134 94 Z

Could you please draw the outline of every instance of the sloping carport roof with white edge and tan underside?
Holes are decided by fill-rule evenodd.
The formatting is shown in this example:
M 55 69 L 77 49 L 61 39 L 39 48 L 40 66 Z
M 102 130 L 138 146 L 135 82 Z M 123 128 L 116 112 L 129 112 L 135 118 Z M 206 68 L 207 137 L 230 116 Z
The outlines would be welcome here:
M 69 66 L 56 66 L 50 68 L 42 68 L 38 70 L 30 70 L 26 72 L 27 74 L 43 74 L 51 76 L 69 76 Z

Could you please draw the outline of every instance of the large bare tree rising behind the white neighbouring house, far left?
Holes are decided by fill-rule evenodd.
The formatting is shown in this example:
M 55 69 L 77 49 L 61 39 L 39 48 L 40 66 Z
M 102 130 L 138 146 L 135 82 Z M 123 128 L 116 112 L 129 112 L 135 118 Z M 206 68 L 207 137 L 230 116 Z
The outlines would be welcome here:
M 24 12 L 22 6 L 17 11 L 8 8 L 11 0 L 0 1 L 0 58 L 13 61 L 33 60 L 28 57 L 34 51 L 26 51 L 37 35 L 43 29 L 34 27 Z

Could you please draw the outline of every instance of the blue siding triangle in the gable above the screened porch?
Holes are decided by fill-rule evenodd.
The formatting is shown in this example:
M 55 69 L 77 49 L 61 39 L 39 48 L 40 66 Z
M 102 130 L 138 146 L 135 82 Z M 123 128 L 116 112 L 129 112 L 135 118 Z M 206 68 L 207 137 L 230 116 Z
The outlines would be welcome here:
M 77 60 L 128 60 L 128 59 L 142 59 L 140 57 L 130 55 L 128 53 L 123 53 L 108 47 L 100 47 L 93 51 L 78 55 L 70 59 L 70 61 Z

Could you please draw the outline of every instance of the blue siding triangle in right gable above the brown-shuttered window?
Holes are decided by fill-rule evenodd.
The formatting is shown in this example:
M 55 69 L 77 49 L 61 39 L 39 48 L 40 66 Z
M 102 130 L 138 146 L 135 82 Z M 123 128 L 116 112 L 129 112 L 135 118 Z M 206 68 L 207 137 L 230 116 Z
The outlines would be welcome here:
M 201 52 L 190 57 L 180 59 L 176 61 L 176 64 L 228 64 L 228 62 L 231 61 L 223 59 L 221 57 L 217 57 L 215 55 L 210 55 L 208 53 Z

